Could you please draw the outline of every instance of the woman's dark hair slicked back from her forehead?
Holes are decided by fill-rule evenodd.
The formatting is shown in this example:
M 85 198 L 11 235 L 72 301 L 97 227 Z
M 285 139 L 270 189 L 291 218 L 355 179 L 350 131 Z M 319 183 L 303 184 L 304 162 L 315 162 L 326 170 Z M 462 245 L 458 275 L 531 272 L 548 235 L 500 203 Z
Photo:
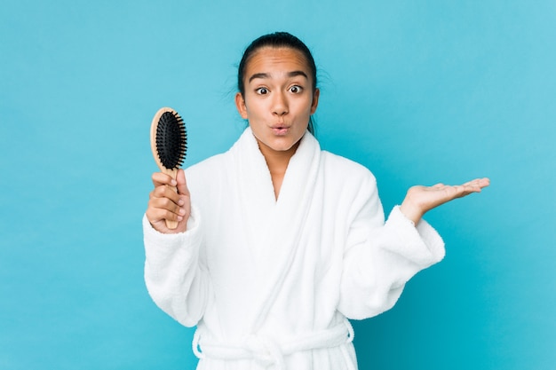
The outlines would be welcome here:
M 240 66 L 237 69 L 237 89 L 240 91 L 242 96 L 245 96 L 245 85 L 243 84 L 243 78 L 245 76 L 245 67 L 249 62 L 249 59 L 259 50 L 265 47 L 271 48 L 290 48 L 301 52 L 306 59 L 307 65 L 311 70 L 311 77 L 313 78 L 313 91 L 316 90 L 316 66 L 314 64 L 313 55 L 306 44 L 303 43 L 298 37 L 289 34 L 288 32 L 274 32 L 268 35 L 262 35 L 254 40 L 243 52 L 242 60 L 240 61 Z M 314 122 L 313 117 L 309 119 L 309 124 L 307 130 L 314 134 Z

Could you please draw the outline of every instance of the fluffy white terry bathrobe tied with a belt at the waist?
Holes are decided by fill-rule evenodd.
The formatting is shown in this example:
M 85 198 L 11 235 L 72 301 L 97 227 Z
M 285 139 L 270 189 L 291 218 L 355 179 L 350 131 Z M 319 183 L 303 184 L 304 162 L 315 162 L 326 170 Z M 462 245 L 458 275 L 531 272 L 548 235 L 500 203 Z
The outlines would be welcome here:
M 385 222 L 375 177 L 310 133 L 277 201 L 249 128 L 186 177 L 187 232 L 164 235 L 143 218 L 145 280 L 163 311 L 197 326 L 198 369 L 354 370 L 347 319 L 390 309 L 444 256 L 424 220 L 396 207 Z

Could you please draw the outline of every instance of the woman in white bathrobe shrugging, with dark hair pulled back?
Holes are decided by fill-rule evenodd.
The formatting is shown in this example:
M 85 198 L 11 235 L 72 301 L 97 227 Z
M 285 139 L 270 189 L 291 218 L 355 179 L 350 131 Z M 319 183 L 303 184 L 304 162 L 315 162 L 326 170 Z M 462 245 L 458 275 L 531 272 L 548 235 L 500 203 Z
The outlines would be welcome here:
M 259 37 L 238 71 L 241 138 L 177 180 L 153 175 L 147 288 L 197 326 L 199 369 L 356 369 L 347 319 L 390 309 L 444 256 L 426 211 L 488 185 L 414 186 L 385 221 L 369 170 L 321 151 L 311 134 L 316 83 L 298 38 Z

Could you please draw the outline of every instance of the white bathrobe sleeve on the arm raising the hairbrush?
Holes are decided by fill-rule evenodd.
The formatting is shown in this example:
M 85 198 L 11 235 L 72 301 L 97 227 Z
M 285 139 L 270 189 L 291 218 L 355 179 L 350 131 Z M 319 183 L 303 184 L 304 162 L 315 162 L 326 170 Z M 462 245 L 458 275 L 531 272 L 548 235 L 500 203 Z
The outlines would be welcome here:
M 203 317 L 210 296 L 206 264 L 200 256 L 203 242 L 201 220 L 195 207 L 187 232 L 157 232 L 143 216 L 145 282 L 155 303 L 186 327 Z

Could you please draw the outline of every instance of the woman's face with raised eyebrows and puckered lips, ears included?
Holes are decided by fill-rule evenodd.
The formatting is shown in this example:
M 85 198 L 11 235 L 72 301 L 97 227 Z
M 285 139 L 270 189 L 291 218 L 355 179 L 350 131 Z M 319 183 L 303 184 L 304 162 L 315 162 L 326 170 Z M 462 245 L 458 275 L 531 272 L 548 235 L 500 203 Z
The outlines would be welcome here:
M 299 51 L 266 47 L 245 67 L 245 93 L 235 104 L 249 125 L 261 152 L 293 155 L 319 101 L 311 70 Z

